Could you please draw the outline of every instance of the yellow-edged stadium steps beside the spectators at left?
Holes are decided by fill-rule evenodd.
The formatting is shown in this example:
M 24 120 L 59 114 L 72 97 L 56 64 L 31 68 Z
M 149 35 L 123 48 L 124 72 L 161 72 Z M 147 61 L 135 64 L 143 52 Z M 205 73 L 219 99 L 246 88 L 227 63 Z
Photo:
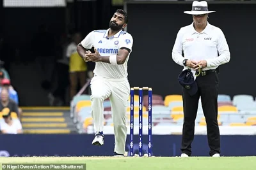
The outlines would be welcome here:
M 70 108 L 24 107 L 21 118 L 24 134 L 69 134 L 77 129 L 70 118 Z

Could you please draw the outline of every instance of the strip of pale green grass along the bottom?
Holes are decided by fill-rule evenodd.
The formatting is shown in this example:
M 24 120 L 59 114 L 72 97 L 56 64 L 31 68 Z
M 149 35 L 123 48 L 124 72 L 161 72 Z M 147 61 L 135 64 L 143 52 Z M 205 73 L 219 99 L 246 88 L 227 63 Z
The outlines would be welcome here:
M 1 164 L 86 164 L 87 170 L 255 170 L 256 157 L 0 157 Z

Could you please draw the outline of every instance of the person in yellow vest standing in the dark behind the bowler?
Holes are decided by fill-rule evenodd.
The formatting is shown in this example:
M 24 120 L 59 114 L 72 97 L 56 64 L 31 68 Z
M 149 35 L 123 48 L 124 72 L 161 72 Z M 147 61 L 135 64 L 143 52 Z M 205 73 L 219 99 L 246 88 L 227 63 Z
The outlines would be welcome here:
M 86 83 L 87 65 L 76 51 L 77 45 L 82 41 L 82 39 L 81 33 L 76 32 L 73 35 L 72 42 L 67 47 L 70 75 L 70 100 L 72 100 L 77 93 L 78 82 L 80 88 Z

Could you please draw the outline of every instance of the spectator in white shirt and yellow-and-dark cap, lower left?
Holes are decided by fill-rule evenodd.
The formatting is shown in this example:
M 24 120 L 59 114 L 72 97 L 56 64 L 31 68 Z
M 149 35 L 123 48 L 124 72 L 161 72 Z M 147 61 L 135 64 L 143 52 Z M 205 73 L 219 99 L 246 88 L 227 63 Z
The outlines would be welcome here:
M 13 119 L 11 117 L 11 111 L 9 108 L 2 110 L 4 121 L 0 123 L 0 129 L 2 134 L 21 134 L 22 125 L 19 119 Z

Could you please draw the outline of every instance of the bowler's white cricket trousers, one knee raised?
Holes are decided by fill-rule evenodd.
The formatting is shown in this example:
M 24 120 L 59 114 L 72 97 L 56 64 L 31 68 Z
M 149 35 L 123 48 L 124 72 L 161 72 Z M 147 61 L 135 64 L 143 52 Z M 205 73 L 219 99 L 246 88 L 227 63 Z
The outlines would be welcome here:
M 127 136 L 126 110 L 130 94 L 130 84 L 125 79 L 108 79 L 94 76 L 91 81 L 92 118 L 97 132 L 103 131 L 103 102 L 109 97 L 115 133 L 115 152 L 125 153 Z

